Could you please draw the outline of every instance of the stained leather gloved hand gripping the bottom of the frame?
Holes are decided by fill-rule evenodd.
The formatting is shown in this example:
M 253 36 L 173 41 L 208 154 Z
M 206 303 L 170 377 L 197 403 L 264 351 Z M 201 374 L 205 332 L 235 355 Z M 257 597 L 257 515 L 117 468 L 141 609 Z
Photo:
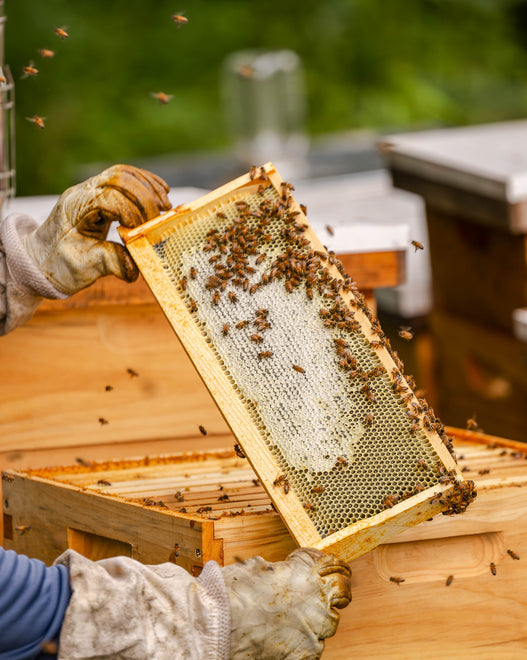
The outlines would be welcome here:
M 351 600 L 347 564 L 301 548 L 285 561 L 261 557 L 226 566 L 231 603 L 230 660 L 316 660 Z

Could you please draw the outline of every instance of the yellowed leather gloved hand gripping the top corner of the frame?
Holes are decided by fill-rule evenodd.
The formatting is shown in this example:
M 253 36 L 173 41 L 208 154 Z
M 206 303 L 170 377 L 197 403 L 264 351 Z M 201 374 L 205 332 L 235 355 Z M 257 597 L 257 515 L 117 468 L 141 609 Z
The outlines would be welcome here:
M 113 221 L 136 227 L 167 211 L 168 186 L 155 174 L 114 165 L 59 198 L 49 218 L 26 236 L 29 256 L 47 280 L 71 295 L 99 277 L 126 282 L 139 271 L 123 245 L 106 240 Z

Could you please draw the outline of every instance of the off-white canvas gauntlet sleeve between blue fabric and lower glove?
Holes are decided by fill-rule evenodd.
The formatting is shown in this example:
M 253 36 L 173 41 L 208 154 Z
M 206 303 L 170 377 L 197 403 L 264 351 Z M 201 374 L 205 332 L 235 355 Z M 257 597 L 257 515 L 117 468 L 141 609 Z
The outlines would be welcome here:
M 55 563 L 69 568 L 73 591 L 59 660 L 228 660 L 229 596 L 216 562 L 197 579 L 171 563 L 92 562 L 73 550 Z

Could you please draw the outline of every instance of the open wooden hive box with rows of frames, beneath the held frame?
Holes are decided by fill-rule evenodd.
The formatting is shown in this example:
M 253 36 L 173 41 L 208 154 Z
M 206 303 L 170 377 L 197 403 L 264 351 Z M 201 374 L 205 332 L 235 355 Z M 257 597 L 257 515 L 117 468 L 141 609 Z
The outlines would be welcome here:
M 353 602 L 325 658 L 494 660 L 527 652 L 527 449 L 449 432 L 461 469 L 476 481 L 476 501 L 351 563 Z M 71 547 L 92 559 L 173 561 L 196 575 L 208 559 L 279 560 L 295 547 L 256 475 L 230 449 L 10 472 L 2 483 L 4 546 L 48 563 Z

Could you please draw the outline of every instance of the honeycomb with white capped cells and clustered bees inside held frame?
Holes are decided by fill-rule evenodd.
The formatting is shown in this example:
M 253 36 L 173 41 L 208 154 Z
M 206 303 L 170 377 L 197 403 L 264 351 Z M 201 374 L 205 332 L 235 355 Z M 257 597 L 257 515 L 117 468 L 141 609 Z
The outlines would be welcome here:
M 423 429 L 449 439 L 397 356 L 381 359 L 388 340 L 335 256 L 306 238 L 291 188 L 264 177 L 167 226 L 153 249 L 272 454 L 274 487 L 324 538 L 444 483 Z

